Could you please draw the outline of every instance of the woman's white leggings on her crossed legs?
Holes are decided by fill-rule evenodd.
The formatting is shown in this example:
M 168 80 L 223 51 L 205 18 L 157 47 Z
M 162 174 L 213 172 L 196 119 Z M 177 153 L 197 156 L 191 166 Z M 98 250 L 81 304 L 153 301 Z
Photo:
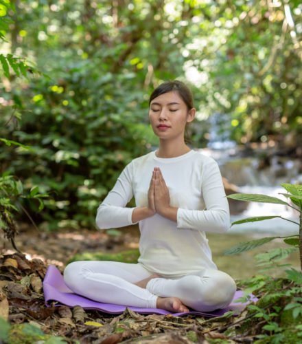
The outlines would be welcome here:
M 133 284 L 150 275 L 139 263 L 75 261 L 65 268 L 64 281 L 76 294 L 102 303 L 156 308 L 157 297 L 178 297 L 200 312 L 227 307 L 236 290 L 229 275 L 213 269 L 179 279 L 154 278 L 146 289 Z

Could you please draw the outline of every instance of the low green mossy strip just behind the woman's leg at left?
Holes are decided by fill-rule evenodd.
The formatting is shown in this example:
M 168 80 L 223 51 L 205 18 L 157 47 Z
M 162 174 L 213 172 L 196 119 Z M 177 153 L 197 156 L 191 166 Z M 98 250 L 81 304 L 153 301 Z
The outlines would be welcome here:
M 133 250 L 121 251 L 119 253 L 92 253 L 83 252 L 78 255 L 73 256 L 67 264 L 72 261 L 83 261 L 83 260 L 100 260 L 100 261 L 121 261 L 123 263 L 137 263 L 139 259 L 139 248 Z

